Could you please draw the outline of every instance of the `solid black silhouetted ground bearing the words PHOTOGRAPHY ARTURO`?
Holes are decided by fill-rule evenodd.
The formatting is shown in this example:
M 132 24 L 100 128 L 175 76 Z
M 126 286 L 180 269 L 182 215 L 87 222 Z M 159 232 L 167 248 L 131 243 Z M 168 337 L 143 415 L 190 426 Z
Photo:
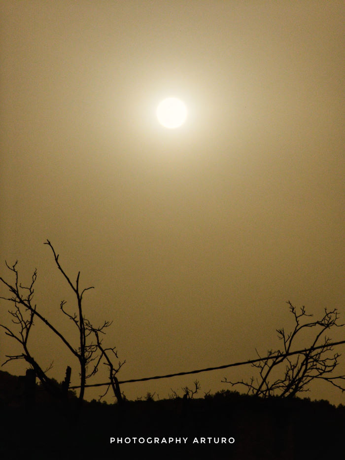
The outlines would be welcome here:
M 327 401 L 262 400 L 226 391 L 203 399 L 128 401 L 122 408 L 92 402 L 77 411 L 74 398 L 25 403 L 7 396 L 0 388 L 2 459 L 344 456 L 345 407 Z

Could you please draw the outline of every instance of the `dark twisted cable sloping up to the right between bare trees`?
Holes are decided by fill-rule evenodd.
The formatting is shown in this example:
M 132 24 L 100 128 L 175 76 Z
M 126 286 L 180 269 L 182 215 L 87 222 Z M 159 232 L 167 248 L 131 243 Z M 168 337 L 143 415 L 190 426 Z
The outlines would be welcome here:
M 199 372 L 208 372 L 208 371 L 215 371 L 217 369 L 226 369 L 228 367 L 243 366 L 244 364 L 253 364 L 254 362 L 263 361 L 265 359 L 281 358 L 281 357 L 284 357 L 284 356 L 291 356 L 293 354 L 303 354 L 303 353 L 309 352 L 311 350 L 320 350 L 321 348 L 325 348 L 325 347 L 328 348 L 328 347 L 333 347 L 333 346 L 342 345 L 342 344 L 345 344 L 345 340 L 342 340 L 341 342 L 333 342 L 333 343 L 329 343 L 329 344 L 319 345 L 318 347 L 304 348 L 303 350 L 298 350 L 296 352 L 281 353 L 281 354 L 275 354 L 275 355 L 271 355 L 271 356 L 264 356 L 262 358 L 251 359 L 249 361 L 234 362 L 232 364 L 225 364 L 224 366 L 207 367 L 205 369 L 196 369 L 194 371 L 188 371 L 188 372 L 178 372 L 176 374 L 156 375 L 154 377 L 144 377 L 142 379 L 123 380 L 122 382 L 119 381 L 119 385 L 125 384 L 125 383 L 145 382 L 147 380 L 168 379 L 170 377 L 177 377 L 177 376 L 180 376 L 180 375 L 198 374 Z M 87 388 L 87 387 L 104 387 L 106 385 L 111 385 L 111 384 L 110 384 L 110 382 L 107 382 L 107 383 L 102 383 L 102 384 L 85 385 L 85 388 Z M 77 389 L 77 388 L 80 388 L 80 385 L 79 386 L 74 386 L 74 387 L 69 387 L 69 389 Z

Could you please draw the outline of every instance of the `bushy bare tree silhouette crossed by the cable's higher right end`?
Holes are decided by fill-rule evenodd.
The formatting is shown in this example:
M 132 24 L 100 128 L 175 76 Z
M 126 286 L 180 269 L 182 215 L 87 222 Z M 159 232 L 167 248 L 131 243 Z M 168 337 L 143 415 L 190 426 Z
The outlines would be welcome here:
M 345 375 L 331 375 L 338 366 L 340 354 L 329 354 L 334 347 L 331 339 L 323 335 L 331 328 L 344 326 L 338 323 L 337 309 L 325 309 L 322 318 L 310 321 L 307 318 L 312 315 L 306 313 L 305 307 L 298 312 L 291 302 L 288 304 L 294 316 L 295 327 L 289 333 L 286 333 L 284 328 L 276 330 L 279 340 L 283 343 L 283 350 L 271 349 L 267 352 L 267 357 L 252 363 L 252 366 L 259 370 L 259 376 L 252 376 L 249 382 L 230 382 L 226 378 L 223 382 L 232 386 L 242 385 L 247 388 L 248 394 L 264 398 L 296 396 L 297 393 L 309 391 L 308 385 L 317 379 L 345 391 Z M 301 333 L 306 329 L 315 329 L 310 346 L 298 354 L 291 354 L 294 352 L 294 344 L 301 339 Z M 306 343 L 307 338 L 303 339 Z M 258 352 L 257 354 L 259 355 Z

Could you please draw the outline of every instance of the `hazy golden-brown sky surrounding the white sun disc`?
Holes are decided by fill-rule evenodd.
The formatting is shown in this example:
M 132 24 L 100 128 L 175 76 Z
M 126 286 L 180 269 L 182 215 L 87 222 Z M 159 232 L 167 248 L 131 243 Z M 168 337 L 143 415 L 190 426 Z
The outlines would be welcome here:
M 345 320 L 342 1 L 0 4 L 0 276 L 4 260 L 19 260 L 23 283 L 37 268 L 37 309 L 75 346 L 59 309 L 74 299 L 47 238 L 71 279 L 80 270 L 95 287 L 85 315 L 113 320 L 104 345 L 127 361 L 119 380 L 277 349 L 276 328 L 294 326 L 288 300 Z M 173 130 L 155 115 L 169 96 L 188 108 Z M 41 367 L 54 360 L 48 375 L 63 380 L 69 364 L 78 383 L 38 320 L 29 346 Z M 3 331 L 0 347 L 1 362 L 21 353 Z M 181 395 L 197 377 L 203 396 L 252 373 L 122 390 Z M 93 382 L 106 380 L 100 368 Z M 345 402 L 327 385 L 309 396 Z

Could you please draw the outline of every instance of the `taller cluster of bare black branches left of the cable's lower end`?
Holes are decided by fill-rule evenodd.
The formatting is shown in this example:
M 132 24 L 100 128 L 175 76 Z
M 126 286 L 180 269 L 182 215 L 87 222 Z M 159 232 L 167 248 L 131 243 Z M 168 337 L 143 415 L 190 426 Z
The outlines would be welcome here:
M 80 288 L 80 272 L 78 272 L 77 274 L 75 283 L 72 283 L 70 277 L 64 271 L 59 262 L 59 254 L 55 252 L 55 249 L 53 248 L 49 240 L 47 240 L 45 244 L 51 248 L 54 255 L 56 266 L 62 273 L 65 281 L 67 281 L 67 283 L 69 284 L 69 287 L 72 289 L 76 298 L 76 312 L 69 313 L 69 311 L 67 311 L 66 309 L 66 302 L 64 300 L 60 302 L 60 310 L 63 313 L 63 315 L 69 318 L 69 320 L 71 320 L 75 325 L 78 336 L 78 345 L 73 345 L 66 338 L 66 335 L 64 335 L 64 333 L 60 329 L 55 327 L 47 319 L 46 314 L 42 314 L 37 310 L 36 304 L 34 303 L 34 286 L 37 278 L 37 271 L 34 271 L 30 285 L 25 286 L 20 282 L 19 272 L 17 269 L 18 261 L 16 261 L 12 266 L 8 265 L 6 262 L 6 267 L 12 273 L 14 281 L 7 282 L 0 277 L 0 281 L 3 283 L 3 285 L 5 285 L 8 288 L 10 292 L 10 296 L 1 296 L 0 298 L 12 304 L 13 310 L 8 311 L 8 313 L 12 317 L 12 326 L 9 327 L 5 324 L 0 324 L 0 326 L 5 330 L 5 334 L 7 336 L 11 337 L 12 339 L 20 343 L 20 345 L 23 348 L 23 353 L 15 355 L 6 355 L 7 359 L 3 364 L 15 359 L 24 359 L 32 366 L 32 368 L 35 370 L 35 375 L 40 380 L 41 384 L 48 391 L 55 394 L 56 396 L 65 395 L 64 393 L 69 388 L 69 379 L 71 372 L 70 367 L 67 367 L 64 385 L 61 387 L 57 386 L 54 380 L 47 376 L 47 372 L 51 369 L 51 366 L 43 370 L 38 363 L 38 359 L 34 357 L 28 345 L 29 335 L 32 334 L 31 331 L 34 326 L 34 320 L 38 318 L 56 336 L 59 337 L 59 339 L 69 349 L 69 352 L 79 361 L 79 400 L 83 400 L 86 380 L 97 373 L 98 366 L 104 359 L 104 364 L 108 367 L 109 370 L 109 387 L 113 389 L 114 395 L 117 397 L 119 401 L 121 401 L 122 395 L 120 392 L 116 374 L 120 370 L 125 361 L 118 361 L 116 364 L 113 364 L 113 357 L 118 359 L 116 348 L 105 348 L 103 346 L 101 338 L 101 336 L 105 333 L 105 329 L 110 326 L 111 321 L 104 321 L 104 323 L 101 326 L 96 327 L 90 322 L 88 318 L 85 317 L 82 309 L 83 295 L 87 290 L 92 289 L 93 286 L 86 287 L 84 289 Z

